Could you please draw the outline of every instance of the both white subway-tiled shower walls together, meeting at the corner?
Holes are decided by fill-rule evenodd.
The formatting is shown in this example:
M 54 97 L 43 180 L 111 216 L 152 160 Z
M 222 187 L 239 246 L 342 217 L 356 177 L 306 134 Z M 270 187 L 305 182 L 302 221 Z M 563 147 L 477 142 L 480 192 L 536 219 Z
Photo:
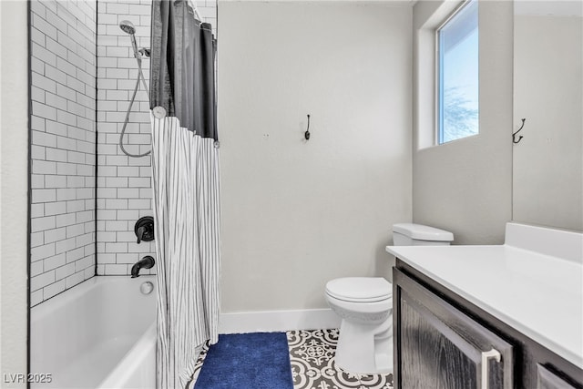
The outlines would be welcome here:
M 216 34 L 215 0 L 193 3 Z M 31 2 L 32 306 L 92 277 L 96 261 L 98 275 L 127 275 L 155 254 L 154 243 L 138 245 L 134 233 L 136 220 L 153 213 L 150 158 L 129 158 L 118 146 L 138 75 L 119 22 L 132 22 L 138 47 L 149 47 L 150 7 L 150 0 Z M 148 58 L 142 66 L 149 78 Z M 148 110 L 140 86 L 124 138 L 132 153 L 149 149 Z

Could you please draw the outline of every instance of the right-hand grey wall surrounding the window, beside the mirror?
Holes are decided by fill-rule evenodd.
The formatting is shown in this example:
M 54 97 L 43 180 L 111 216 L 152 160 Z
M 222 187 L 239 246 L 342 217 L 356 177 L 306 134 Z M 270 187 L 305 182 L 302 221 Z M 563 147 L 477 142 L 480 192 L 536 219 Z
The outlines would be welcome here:
M 414 5 L 415 34 L 442 3 Z M 434 131 L 419 118 L 434 111 L 415 111 L 413 220 L 451 230 L 457 244 L 502 243 L 512 217 L 513 2 L 479 3 L 479 41 L 479 135 L 417 149 Z M 415 89 L 424 82 L 415 74 Z

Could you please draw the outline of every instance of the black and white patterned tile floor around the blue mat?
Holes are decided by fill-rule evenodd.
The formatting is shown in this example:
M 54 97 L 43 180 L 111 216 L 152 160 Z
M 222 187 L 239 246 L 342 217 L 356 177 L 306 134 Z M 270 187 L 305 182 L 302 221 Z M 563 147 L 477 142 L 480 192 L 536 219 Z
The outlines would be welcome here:
M 336 366 L 338 330 L 289 331 L 287 337 L 294 389 L 393 389 L 393 374 L 347 374 Z M 208 351 L 205 345 L 192 383 L 196 382 Z

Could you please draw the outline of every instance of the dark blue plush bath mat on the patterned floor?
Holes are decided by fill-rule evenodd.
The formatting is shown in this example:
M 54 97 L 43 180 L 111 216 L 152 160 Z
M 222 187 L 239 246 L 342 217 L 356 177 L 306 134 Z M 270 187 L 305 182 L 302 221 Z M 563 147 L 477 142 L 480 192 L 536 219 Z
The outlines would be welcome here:
M 202 363 L 195 389 L 293 389 L 285 333 L 219 335 Z

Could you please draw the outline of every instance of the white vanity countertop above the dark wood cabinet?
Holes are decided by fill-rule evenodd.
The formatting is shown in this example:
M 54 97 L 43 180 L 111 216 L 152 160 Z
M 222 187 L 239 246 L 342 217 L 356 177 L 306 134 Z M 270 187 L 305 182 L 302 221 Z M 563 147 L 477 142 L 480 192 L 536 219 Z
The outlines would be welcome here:
M 386 251 L 569 362 L 583 366 L 580 262 L 507 244 L 387 246 Z

